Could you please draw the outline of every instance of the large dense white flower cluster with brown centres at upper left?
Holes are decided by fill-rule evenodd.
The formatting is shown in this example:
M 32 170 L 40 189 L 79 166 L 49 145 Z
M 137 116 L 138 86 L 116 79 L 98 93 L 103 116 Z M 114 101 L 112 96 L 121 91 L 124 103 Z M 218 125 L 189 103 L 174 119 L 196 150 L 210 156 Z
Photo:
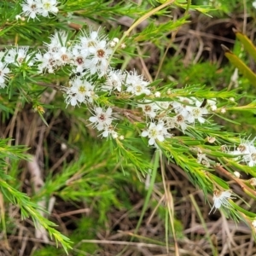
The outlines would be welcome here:
M 45 46 L 44 53 L 36 55 L 39 73 L 55 73 L 58 68 L 69 65 L 72 73 L 96 73 L 101 78 L 107 73 L 108 58 L 113 52 L 108 38 L 92 29 L 89 33 L 82 32 L 73 44 L 66 32 L 55 32 Z

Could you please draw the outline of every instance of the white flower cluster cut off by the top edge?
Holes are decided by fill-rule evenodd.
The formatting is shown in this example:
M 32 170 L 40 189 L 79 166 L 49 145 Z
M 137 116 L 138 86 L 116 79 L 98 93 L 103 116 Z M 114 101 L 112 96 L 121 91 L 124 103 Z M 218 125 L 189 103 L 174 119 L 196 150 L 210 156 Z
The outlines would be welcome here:
M 56 0 L 25 0 L 21 3 L 21 7 L 28 20 L 38 18 L 37 15 L 49 17 L 49 13 L 56 15 L 59 11 L 57 8 L 58 2 Z

